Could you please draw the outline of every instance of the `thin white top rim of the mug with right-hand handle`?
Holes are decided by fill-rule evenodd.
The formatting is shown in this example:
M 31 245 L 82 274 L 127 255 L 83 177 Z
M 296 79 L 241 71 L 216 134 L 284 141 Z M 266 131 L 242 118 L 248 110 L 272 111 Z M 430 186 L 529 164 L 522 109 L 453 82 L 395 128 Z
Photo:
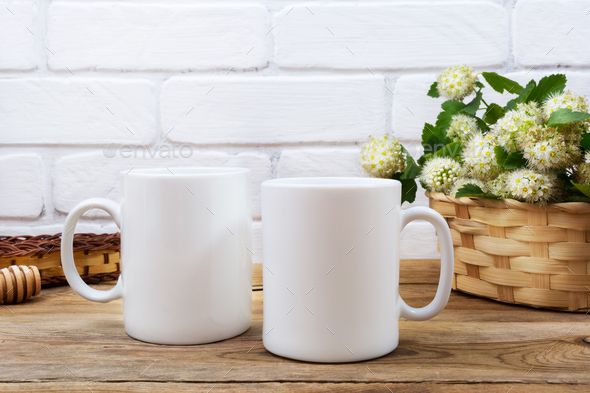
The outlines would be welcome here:
M 330 189 L 395 188 L 401 187 L 401 183 L 395 179 L 380 179 L 374 177 L 285 177 L 263 181 L 262 187 Z

